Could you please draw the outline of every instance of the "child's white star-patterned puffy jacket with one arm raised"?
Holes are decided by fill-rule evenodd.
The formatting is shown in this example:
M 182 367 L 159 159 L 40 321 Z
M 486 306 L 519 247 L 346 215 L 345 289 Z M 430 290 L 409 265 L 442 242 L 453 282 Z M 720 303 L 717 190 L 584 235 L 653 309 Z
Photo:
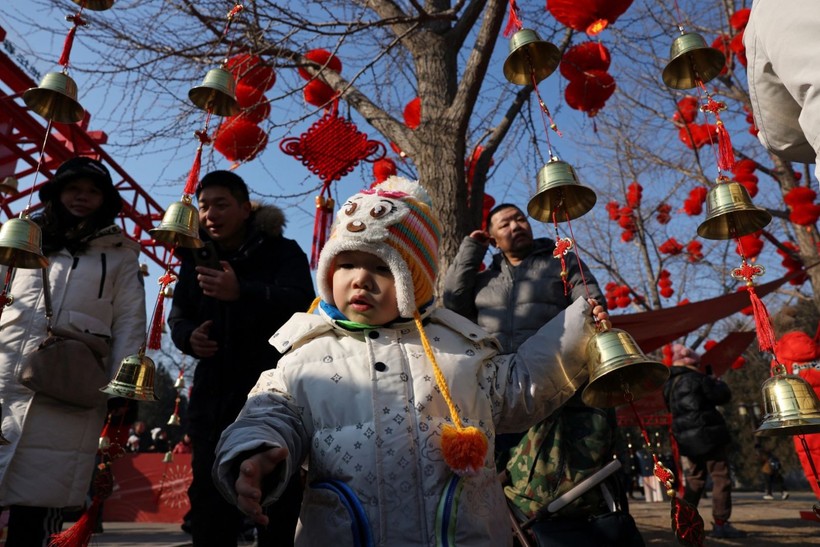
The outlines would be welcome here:
M 587 378 L 593 329 L 585 315 L 589 306 L 578 300 L 517 354 L 498 356 L 476 324 L 449 310 L 430 313 L 425 332 L 464 424 L 492 447 L 496 432 L 527 429 L 568 399 Z M 471 477 L 459 479 L 443 461 L 449 411 L 412 322 L 349 331 L 326 316 L 296 314 L 271 343 L 285 356 L 259 378 L 217 448 L 214 475 L 227 498 L 236 501 L 236 470 L 248 452 L 285 446 L 281 476 L 309 460 L 313 485 L 299 547 L 353 546 L 353 522 L 365 545 L 511 544 L 493 450 Z

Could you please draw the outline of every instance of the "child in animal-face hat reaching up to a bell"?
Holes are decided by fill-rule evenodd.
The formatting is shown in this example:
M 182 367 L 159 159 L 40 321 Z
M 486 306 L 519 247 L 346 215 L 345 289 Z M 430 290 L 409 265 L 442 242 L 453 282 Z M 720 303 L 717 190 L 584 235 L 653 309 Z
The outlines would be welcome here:
M 350 198 L 320 256 L 320 314 L 274 334 L 284 357 L 222 435 L 215 480 L 260 523 L 309 460 L 297 546 L 511 545 L 488 443 L 587 379 L 593 315 L 577 300 L 498 356 L 477 325 L 431 305 L 438 241 L 416 183 L 391 177 Z

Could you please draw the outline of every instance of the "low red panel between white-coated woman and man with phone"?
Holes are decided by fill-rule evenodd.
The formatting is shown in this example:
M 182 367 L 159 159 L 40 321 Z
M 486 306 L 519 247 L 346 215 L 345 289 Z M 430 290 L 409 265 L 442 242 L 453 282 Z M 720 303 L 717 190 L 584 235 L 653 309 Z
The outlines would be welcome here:
M 126 454 L 112 465 L 114 492 L 103 504 L 103 522 L 182 523 L 191 505 L 191 455 Z

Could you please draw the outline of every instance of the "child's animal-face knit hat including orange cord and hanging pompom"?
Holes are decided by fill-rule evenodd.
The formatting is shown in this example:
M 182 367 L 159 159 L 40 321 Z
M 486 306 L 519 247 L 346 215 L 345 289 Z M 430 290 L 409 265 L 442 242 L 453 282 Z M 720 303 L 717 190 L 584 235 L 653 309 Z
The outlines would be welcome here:
M 441 225 L 427 191 L 418 182 L 389 177 L 374 188 L 353 195 L 340 207 L 330 238 L 319 255 L 316 283 L 322 300 L 335 306 L 333 261 L 339 253 L 362 251 L 387 264 L 396 285 L 399 313 L 413 318 L 424 353 L 433 367 L 436 385 L 450 412 L 452 425 L 446 424 L 441 434 L 444 461 L 455 473 L 469 475 L 484 466 L 489 443 L 481 430 L 462 423 L 419 313 L 433 300 L 440 237 Z

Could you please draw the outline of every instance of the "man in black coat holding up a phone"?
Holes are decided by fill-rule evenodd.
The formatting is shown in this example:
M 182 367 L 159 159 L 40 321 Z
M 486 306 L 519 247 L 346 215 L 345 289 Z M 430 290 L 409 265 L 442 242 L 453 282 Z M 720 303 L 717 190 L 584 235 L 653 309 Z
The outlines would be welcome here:
M 243 515 L 214 486 L 214 451 L 260 373 L 279 360 L 268 339 L 293 313 L 307 310 L 314 292 L 307 256 L 282 237 L 282 211 L 271 205 L 254 209 L 239 176 L 205 175 L 197 201 L 206 247 L 181 253 L 168 325 L 174 344 L 199 359 L 187 417 L 193 544 L 230 547 L 237 544 Z M 301 485 L 292 482 L 289 493 L 269 508 L 271 524 L 257 530 L 260 547 L 293 545 Z

